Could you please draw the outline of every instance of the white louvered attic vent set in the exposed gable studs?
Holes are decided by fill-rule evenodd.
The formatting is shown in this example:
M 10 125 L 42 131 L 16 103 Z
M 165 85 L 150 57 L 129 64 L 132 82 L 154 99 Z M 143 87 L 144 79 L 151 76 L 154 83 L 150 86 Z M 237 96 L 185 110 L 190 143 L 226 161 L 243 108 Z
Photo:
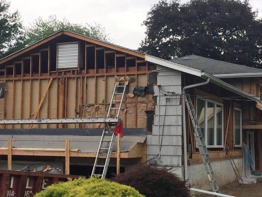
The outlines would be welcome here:
M 78 57 L 78 42 L 58 43 L 58 69 L 78 67 Z

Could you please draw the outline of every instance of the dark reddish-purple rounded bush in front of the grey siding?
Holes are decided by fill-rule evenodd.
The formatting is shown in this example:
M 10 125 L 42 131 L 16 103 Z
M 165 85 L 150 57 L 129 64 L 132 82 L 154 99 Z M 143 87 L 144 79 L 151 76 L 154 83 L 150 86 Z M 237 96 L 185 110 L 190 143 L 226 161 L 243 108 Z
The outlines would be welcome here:
M 131 186 L 146 197 L 190 197 L 186 182 L 164 168 L 139 165 L 111 180 Z

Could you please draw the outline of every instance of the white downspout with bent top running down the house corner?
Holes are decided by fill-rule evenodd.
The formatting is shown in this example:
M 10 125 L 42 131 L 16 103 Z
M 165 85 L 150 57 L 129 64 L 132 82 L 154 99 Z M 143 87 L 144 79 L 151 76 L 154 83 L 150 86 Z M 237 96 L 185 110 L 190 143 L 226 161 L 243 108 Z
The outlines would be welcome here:
M 184 146 L 184 180 L 188 179 L 187 174 L 187 143 L 186 143 L 186 109 L 185 109 L 185 90 L 189 88 L 194 88 L 197 86 L 203 86 L 205 84 L 208 84 L 210 81 L 209 78 L 206 79 L 206 81 L 202 83 L 196 83 L 189 86 L 185 86 L 182 88 L 182 119 L 183 119 L 183 146 Z

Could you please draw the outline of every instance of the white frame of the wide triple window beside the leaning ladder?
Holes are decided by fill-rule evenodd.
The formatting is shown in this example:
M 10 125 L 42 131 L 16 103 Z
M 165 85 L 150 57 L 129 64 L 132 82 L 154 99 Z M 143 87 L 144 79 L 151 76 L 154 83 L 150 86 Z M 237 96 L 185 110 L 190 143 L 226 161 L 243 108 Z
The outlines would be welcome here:
M 224 104 L 221 102 L 217 102 L 211 99 L 205 99 L 203 97 L 196 97 L 196 109 L 197 109 L 197 99 L 202 99 L 204 100 L 204 142 L 207 148 L 223 148 L 224 147 Z M 207 145 L 207 102 L 211 102 L 214 104 L 214 145 Z M 216 105 L 222 106 L 222 145 L 217 145 L 217 125 L 216 125 L 216 120 L 217 120 L 217 115 L 216 115 Z M 197 110 L 196 110 L 196 115 L 197 115 Z M 198 115 L 197 115 L 198 116 Z

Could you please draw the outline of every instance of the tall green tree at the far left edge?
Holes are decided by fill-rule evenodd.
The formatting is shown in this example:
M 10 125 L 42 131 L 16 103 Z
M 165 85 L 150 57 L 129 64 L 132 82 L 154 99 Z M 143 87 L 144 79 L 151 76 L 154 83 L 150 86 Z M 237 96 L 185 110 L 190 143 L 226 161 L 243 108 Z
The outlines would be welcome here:
M 10 12 L 9 8 L 10 2 L 0 0 L 0 59 L 20 42 L 23 35 L 19 12 Z

